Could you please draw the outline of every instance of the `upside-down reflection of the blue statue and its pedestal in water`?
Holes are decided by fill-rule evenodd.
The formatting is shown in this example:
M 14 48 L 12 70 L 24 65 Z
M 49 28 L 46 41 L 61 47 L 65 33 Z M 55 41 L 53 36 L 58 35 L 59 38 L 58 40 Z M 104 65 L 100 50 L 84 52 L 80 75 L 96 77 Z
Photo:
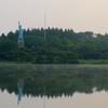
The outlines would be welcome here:
M 18 89 L 17 104 L 19 104 L 19 102 L 23 97 L 23 87 L 24 87 L 24 79 L 19 79 L 17 82 L 17 89 Z

